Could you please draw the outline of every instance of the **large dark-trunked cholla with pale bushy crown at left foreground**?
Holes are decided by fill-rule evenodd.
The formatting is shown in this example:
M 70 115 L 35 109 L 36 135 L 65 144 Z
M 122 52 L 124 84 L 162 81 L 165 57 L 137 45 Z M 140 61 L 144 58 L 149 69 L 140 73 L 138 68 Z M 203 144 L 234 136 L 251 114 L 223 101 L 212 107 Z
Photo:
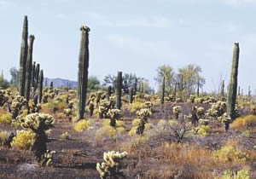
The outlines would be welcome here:
M 20 118 L 20 126 L 25 130 L 32 130 L 36 134 L 35 142 L 33 144 L 33 151 L 37 160 L 40 162 L 44 158 L 44 153 L 47 152 L 46 143 L 48 137 L 45 130 L 54 127 L 55 118 L 49 114 L 32 113 L 26 118 Z

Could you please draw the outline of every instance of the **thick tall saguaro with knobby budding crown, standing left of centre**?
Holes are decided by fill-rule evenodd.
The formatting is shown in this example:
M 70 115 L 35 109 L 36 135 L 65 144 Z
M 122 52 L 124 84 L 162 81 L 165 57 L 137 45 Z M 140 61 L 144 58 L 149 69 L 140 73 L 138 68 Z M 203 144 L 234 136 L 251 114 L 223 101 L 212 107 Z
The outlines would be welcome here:
M 89 32 L 88 26 L 82 26 L 79 50 L 79 86 L 78 86 L 78 120 L 84 118 L 89 67 Z

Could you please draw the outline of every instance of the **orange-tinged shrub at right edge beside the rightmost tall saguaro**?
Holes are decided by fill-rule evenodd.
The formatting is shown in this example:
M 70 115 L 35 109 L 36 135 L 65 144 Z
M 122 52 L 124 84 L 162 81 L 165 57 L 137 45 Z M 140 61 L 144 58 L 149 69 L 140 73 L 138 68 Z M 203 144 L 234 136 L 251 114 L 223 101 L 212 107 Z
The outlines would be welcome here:
M 256 127 L 256 116 L 249 115 L 243 118 L 236 118 L 231 124 L 232 129 L 241 130 Z

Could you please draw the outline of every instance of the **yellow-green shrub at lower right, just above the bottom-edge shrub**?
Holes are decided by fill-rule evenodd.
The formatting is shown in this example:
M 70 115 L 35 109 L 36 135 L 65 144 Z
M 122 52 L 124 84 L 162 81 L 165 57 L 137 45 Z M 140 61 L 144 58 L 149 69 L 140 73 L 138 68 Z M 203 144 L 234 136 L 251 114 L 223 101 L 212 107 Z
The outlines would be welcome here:
M 221 147 L 219 150 L 213 151 L 212 156 L 220 162 L 243 162 L 248 159 L 247 153 L 242 152 L 229 143 Z

